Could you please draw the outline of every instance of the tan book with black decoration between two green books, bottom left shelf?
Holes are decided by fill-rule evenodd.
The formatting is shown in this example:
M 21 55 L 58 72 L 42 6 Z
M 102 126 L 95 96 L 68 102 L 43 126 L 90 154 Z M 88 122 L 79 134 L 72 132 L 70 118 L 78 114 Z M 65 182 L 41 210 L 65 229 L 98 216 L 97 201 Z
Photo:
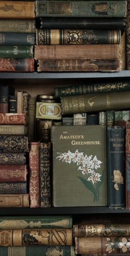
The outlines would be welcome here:
M 72 243 L 72 228 L 0 231 L 0 246 L 72 246 Z

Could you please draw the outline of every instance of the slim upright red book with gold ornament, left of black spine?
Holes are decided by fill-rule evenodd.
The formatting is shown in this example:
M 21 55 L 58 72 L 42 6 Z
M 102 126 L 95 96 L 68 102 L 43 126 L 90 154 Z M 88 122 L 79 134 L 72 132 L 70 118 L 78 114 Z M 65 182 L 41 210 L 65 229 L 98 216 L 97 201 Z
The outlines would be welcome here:
M 39 142 L 30 143 L 29 152 L 29 194 L 30 194 L 30 207 L 40 207 L 40 176 L 39 176 Z

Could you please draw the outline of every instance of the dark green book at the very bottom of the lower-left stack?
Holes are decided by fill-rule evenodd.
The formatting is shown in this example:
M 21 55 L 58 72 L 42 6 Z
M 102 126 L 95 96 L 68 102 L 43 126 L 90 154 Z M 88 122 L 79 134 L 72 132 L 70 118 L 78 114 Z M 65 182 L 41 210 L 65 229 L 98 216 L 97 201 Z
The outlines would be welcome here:
M 75 256 L 74 246 L 12 246 L 1 247 L 0 256 Z

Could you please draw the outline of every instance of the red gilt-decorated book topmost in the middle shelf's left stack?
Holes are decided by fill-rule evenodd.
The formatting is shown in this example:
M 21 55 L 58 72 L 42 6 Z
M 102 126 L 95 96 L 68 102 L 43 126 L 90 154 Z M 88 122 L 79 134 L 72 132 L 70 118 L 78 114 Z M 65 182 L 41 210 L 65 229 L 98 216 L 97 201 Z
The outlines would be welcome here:
M 0 113 L 0 124 L 26 125 L 26 115 L 18 113 Z

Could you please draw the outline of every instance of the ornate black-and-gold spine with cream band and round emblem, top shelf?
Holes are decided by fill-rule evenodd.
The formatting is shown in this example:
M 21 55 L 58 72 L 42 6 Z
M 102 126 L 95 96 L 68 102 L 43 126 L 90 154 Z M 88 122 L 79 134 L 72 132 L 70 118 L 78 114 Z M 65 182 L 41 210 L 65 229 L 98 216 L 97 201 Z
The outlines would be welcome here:
M 121 30 L 36 30 L 37 45 L 120 44 L 120 42 Z

